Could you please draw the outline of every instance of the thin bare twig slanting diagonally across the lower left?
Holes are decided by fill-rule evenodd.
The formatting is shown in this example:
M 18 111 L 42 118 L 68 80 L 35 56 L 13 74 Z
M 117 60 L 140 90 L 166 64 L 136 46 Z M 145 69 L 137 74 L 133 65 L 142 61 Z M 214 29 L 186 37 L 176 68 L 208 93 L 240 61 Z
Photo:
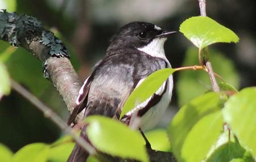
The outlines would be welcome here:
M 48 106 L 44 105 L 36 96 L 32 95 L 27 89 L 23 88 L 19 85 L 19 83 L 16 83 L 14 80 L 11 80 L 11 87 L 20 95 L 22 95 L 24 98 L 26 98 L 30 103 L 36 106 L 40 111 L 44 113 L 44 116 L 51 119 L 54 123 L 56 123 L 57 126 L 59 126 L 61 129 L 65 131 L 68 135 L 71 135 L 73 139 L 75 139 L 76 143 L 78 143 L 82 148 L 84 148 L 89 154 L 96 153 L 95 149 L 90 146 L 88 142 L 86 142 L 84 139 L 79 137 L 75 131 L 73 131 L 70 127 L 66 125 L 66 123 L 55 113 L 53 112 Z

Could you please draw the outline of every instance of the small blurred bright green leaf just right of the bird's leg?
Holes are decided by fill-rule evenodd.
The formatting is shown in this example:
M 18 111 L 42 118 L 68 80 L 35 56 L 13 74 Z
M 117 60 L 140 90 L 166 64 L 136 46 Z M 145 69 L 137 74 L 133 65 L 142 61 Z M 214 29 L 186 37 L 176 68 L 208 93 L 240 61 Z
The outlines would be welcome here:
M 168 139 L 167 130 L 154 129 L 145 133 L 152 149 L 159 151 L 171 151 L 171 144 Z

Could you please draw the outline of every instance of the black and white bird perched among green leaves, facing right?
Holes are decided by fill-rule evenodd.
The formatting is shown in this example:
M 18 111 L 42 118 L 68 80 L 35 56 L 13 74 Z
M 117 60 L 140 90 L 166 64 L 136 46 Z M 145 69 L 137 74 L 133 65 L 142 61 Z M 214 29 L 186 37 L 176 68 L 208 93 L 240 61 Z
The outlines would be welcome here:
M 76 100 L 76 106 L 68 124 L 84 110 L 84 118 L 102 115 L 119 118 L 125 101 L 135 88 L 150 74 L 171 67 L 164 54 L 164 42 L 174 32 L 163 31 L 160 27 L 144 22 L 132 22 L 120 28 L 110 39 L 106 56 L 95 66 L 93 73 L 85 80 Z M 163 116 L 172 96 L 172 75 L 143 103 L 126 113 L 121 121 L 129 125 L 135 109 L 141 117 L 139 127 L 148 130 Z M 86 126 L 81 137 L 86 137 Z M 69 162 L 84 162 L 88 157 L 76 144 Z

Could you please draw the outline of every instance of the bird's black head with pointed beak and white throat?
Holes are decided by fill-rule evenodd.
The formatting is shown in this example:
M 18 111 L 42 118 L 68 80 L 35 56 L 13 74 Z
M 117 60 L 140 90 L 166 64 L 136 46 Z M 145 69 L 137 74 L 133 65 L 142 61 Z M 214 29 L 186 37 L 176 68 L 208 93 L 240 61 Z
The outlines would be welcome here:
M 131 22 L 119 28 L 117 33 L 112 36 L 107 52 L 121 48 L 135 48 L 152 55 L 154 50 L 163 49 L 167 36 L 172 33 L 175 32 L 163 31 L 151 23 Z

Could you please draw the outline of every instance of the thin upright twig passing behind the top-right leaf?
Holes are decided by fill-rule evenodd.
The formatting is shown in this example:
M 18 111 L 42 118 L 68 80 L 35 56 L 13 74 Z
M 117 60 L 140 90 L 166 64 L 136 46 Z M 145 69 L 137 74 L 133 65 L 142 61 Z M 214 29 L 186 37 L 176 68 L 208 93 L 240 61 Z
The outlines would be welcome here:
M 205 0 L 199 0 L 201 16 L 207 16 L 205 3 L 206 3 Z M 214 73 L 213 73 L 212 64 L 209 61 L 208 47 L 205 47 L 205 48 L 199 50 L 199 61 L 200 61 L 201 65 L 204 65 L 207 67 L 210 82 L 212 83 L 213 91 L 220 92 L 220 87 L 218 87 L 217 81 L 216 81 Z

